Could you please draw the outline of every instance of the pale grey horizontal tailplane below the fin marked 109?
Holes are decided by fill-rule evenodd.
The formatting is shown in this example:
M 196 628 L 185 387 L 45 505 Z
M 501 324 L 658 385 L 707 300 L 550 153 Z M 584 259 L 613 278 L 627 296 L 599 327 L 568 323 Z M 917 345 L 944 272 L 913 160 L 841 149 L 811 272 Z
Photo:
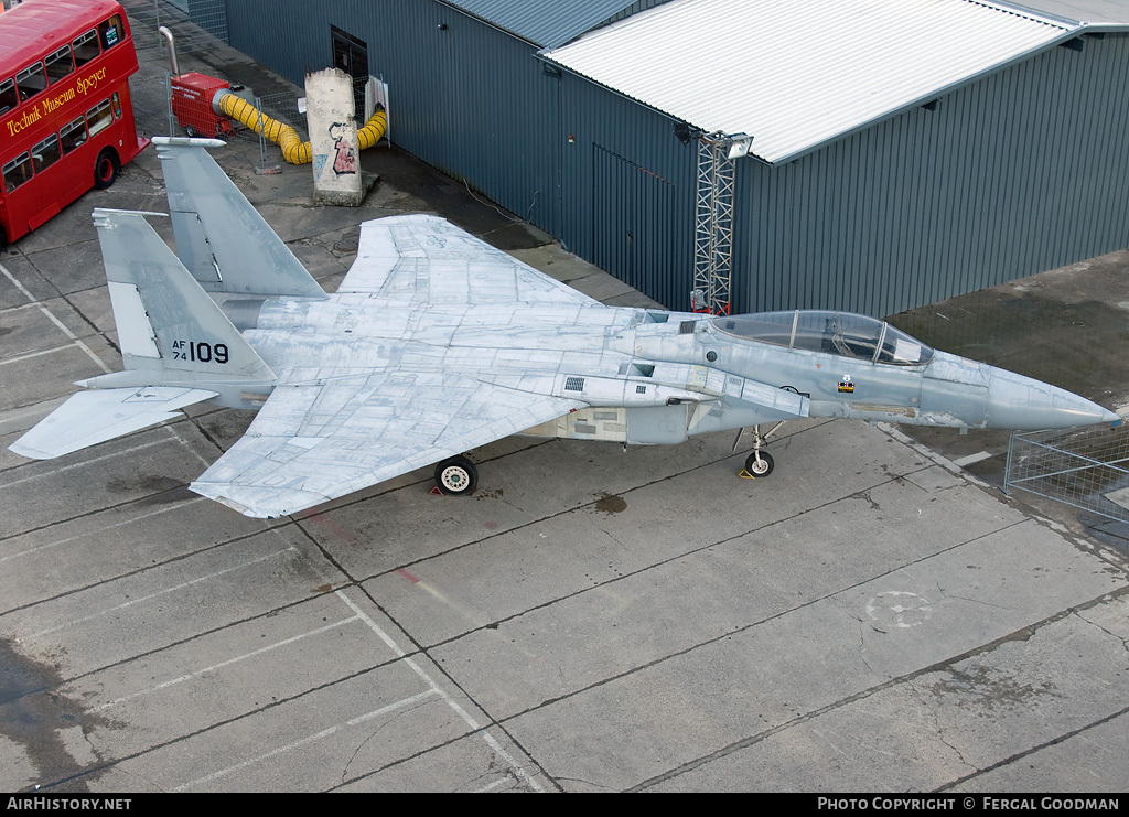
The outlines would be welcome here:
M 217 394 L 202 388 L 168 386 L 79 392 L 10 449 L 29 459 L 53 459 L 172 420 L 177 409 Z

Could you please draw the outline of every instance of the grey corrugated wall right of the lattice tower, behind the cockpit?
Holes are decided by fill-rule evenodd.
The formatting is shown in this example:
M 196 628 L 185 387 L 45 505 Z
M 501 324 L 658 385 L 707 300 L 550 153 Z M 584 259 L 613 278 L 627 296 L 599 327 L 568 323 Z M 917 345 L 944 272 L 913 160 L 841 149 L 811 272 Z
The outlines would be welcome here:
M 738 162 L 734 306 L 873 315 L 1129 246 L 1129 37 L 1056 47 L 779 168 Z

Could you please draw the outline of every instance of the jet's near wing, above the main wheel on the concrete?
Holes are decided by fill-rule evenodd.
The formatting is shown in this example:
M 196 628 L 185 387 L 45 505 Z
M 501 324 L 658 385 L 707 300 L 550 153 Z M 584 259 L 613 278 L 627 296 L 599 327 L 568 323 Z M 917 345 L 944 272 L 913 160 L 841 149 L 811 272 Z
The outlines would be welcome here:
M 190 487 L 246 516 L 297 513 L 585 405 L 438 372 L 279 386 Z

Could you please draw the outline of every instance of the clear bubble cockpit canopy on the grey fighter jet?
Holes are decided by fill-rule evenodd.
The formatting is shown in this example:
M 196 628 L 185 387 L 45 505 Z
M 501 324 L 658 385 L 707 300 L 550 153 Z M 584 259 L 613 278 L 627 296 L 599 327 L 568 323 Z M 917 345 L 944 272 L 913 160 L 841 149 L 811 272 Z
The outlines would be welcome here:
M 855 360 L 917 366 L 933 358 L 933 349 L 885 320 L 852 313 L 790 309 L 720 315 L 711 323 L 727 335 Z

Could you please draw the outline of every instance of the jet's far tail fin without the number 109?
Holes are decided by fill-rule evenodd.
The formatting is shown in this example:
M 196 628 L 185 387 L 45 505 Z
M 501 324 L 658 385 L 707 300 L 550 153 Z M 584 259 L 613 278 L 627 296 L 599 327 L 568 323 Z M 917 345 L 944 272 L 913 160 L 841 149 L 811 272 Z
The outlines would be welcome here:
M 176 254 L 209 292 L 325 298 L 325 291 L 208 153 L 215 139 L 156 137 Z

